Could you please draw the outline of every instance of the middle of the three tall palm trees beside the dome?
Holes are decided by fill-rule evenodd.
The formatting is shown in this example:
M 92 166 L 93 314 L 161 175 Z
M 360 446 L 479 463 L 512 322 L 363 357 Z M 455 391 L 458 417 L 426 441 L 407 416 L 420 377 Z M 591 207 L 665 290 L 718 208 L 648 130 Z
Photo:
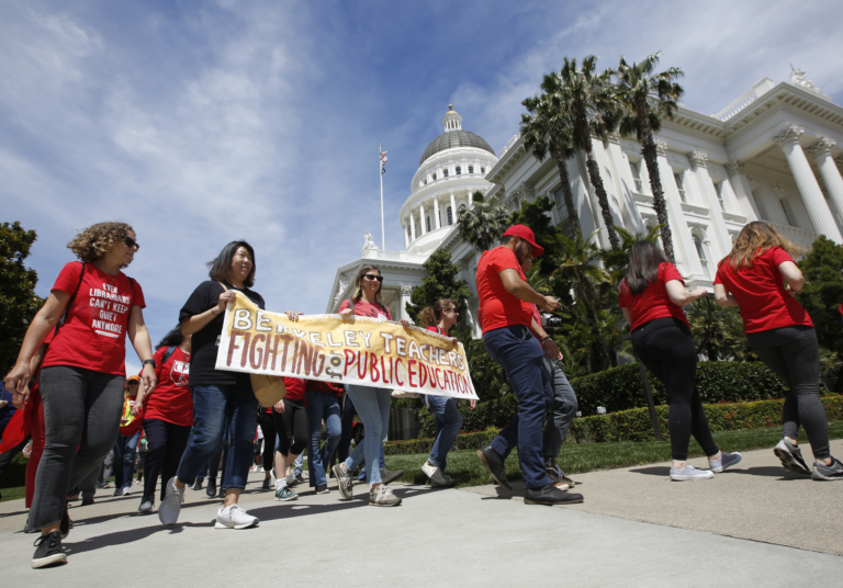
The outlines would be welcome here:
M 600 167 L 594 159 L 592 145 L 592 135 L 603 137 L 612 126 L 612 122 L 606 120 L 606 114 L 617 110 L 610 82 L 614 71 L 607 69 L 602 74 L 595 74 L 596 63 L 597 57 L 589 55 L 583 59 L 582 68 L 577 68 L 576 59 L 565 57 L 564 65 L 559 72 L 554 71 L 544 76 L 541 89 L 552 100 L 558 100 L 564 104 L 564 110 L 570 113 L 572 144 L 585 151 L 585 167 L 597 195 L 597 202 L 600 204 L 600 213 L 609 235 L 609 244 L 611 244 L 612 249 L 617 249 L 620 241 L 615 231 L 615 219 L 611 217 L 609 199 L 603 185 Z

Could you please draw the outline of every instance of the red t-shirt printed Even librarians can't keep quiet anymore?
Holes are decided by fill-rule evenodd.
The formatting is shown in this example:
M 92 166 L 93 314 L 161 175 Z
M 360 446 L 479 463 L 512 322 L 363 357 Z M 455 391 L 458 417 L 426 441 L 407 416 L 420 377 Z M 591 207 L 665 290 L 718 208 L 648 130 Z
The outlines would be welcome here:
M 109 275 L 93 263 L 67 263 L 53 284 L 74 296 L 65 324 L 50 343 L 42 368 L 72 365 L 104 374 L 125 375 L 126 325 L 133 306 L 144 308 L 140 284 L 126 274 Z

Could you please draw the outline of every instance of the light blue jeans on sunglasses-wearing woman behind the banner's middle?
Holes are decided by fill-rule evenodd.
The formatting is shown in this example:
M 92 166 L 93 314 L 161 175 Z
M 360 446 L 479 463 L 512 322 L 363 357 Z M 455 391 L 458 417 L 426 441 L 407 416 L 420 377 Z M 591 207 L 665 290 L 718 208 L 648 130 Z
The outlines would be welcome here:
M 366 437 L 346 460 L 346 466 L 356 470 L 366 460 L 366 482 L 369 485 L 380 484 L 381 468 L 372 467 L 372 464 L 380 464 L 383 440 L 390 426 L 390 391 L 346 384 L 346 393 L 355 403 L 357 414 L 366 427 Z

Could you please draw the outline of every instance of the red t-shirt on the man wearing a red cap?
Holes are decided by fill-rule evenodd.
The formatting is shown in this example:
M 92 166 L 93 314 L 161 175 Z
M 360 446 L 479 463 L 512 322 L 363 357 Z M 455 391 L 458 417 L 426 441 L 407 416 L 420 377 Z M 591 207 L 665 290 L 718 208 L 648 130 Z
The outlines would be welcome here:
M 521 264 L 518 263 L 518 258 L 512 249 L 496 247 L 483 252 L 477 263 L 476 283 L 480 313 L 483 315 L 481 328 L 484 333 L 510 325 L 530 327 L 532 304 L 506 291 L 499 275 L 504 270 L 516 270 L 518 276 L 527 281 L 527 276 L 521 271 Z

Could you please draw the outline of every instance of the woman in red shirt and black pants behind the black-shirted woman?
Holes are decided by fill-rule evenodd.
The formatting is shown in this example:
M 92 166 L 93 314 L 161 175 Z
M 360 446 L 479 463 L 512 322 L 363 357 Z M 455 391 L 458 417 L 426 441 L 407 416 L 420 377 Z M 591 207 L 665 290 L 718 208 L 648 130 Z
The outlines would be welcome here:
M 193 427 L 193 396 L 190 394 L 190 342 L 192 335 L 182 335 L 181 326 L 168 332 L 155 350 L 155 370 L 158 387 L 144 398 L 144 433 L 146 460 L 144 462 L 144 496 L 137 511 L 153 512 L 155 487 L 160 475 L 160 499 L 164 500 L 167 480 L 176 475 L 181 455 L 188 446 Z

